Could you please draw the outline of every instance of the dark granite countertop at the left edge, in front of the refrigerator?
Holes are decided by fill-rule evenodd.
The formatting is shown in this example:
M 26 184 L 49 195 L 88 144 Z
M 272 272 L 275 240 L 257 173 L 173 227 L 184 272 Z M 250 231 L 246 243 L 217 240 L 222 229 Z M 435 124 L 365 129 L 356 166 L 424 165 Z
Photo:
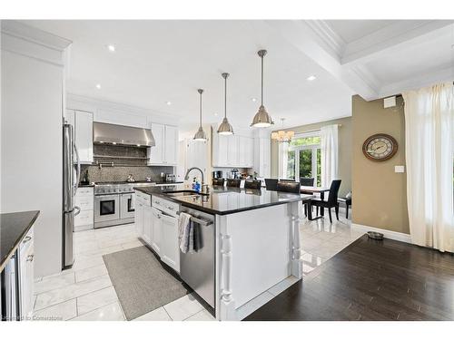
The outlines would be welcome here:
M 26 233 L 38 218 L 39 211 L 0 214 L 0 272 L 15 253 Z

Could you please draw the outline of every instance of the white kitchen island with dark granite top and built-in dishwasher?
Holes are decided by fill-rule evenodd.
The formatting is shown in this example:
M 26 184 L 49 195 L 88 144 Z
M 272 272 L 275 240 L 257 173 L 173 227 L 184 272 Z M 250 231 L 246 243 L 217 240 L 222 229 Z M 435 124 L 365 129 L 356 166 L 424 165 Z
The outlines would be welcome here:
M 144 226 L 139 236 L 214 308 L 218 320 L 242 320 L 260 307 L 259 300 L 268 301 L 256 297 L 301 279 L 301 202 L 312 196 L 212 187 L 208 196 L 171 197 L 162 189 L 141 190 L 151 195 L 136 191 L 138 204 L 151 198 L 152 207 L 144 209 L 152 209 L 153 217 L 137 219 Z M 197 246 L 186 253 L 178 247 L 178 211 L 191 215 L 194 228 Z

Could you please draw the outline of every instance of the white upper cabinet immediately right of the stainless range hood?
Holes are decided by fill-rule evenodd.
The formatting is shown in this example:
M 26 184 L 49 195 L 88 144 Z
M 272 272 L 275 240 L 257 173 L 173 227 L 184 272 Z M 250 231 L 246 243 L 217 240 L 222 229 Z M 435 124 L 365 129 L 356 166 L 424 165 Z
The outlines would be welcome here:
M 148 148 L 148 165 L 176 165 L 178 161 L 178 128 L 152 123 L 156 145 Z

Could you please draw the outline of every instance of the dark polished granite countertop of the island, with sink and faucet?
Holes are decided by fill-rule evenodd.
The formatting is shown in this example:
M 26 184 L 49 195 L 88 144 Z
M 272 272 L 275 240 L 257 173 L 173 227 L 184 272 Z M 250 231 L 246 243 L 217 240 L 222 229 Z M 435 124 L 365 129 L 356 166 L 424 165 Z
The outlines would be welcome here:
M 184 207 L 198 209 L 209 214 L 227 215 L 235 212 L 271 207 L 299 200 L 309 200 L 312 195 L 300 195 L 267 189 L 240 189 L 210 187 L 209 195 L 171 197 L 166 194 L 170 189 L 162 187 L 136 188 L 149 195 L 173 200 Z

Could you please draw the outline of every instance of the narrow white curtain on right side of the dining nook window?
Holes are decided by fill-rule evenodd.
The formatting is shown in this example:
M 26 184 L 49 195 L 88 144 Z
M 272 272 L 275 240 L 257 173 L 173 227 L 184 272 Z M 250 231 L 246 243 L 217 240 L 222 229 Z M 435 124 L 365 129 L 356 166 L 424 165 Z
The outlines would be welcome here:
M 338 179 L 339 128 L 328 125 L 321 128 L 321 186 L 329 187 L 331 180 Z

